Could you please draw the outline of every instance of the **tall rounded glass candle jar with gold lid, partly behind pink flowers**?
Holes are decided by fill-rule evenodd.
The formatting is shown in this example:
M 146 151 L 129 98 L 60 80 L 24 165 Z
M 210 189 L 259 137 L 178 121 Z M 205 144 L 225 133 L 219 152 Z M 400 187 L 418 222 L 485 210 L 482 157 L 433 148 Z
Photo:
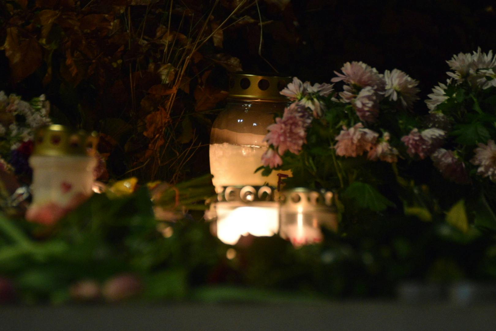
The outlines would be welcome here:
M 274 122 L 275 113 L 283 113 L 289 99 L 281 95 L 290 77 L 234 74 L 230 79 L 226 108 L 219 114 L 210 135 L 210 172 L 217 193 L 227 186 L 276 187 L 278 173 L 268 177 L 254 171 L 262 165 L 267 150 L 263 138 Z

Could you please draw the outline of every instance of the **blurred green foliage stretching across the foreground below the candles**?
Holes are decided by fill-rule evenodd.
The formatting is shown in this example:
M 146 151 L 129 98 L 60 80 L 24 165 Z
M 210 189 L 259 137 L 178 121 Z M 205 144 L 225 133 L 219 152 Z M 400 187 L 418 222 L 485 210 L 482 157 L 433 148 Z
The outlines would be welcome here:
M 474 226 L 384 217 L 346 233 L 323 229 L 322 244 L 302 248 L 277 236 L 229 246 L 211 235 L 202 211 L 164 222 L 152 207 L 141 187 L 95 194 L 53 228 L 1 216 L 0 296 L 5 282 L 13 294 L 0 302 L 302 302 L 392 297 L 404 280 L 496 279 L 493 232 Z

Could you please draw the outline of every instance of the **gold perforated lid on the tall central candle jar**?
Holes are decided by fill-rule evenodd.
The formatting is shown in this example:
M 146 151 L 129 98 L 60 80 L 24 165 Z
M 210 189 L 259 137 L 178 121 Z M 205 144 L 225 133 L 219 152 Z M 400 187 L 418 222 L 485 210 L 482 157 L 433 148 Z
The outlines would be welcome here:
M 229 77 L 229 97 L 257 100 L 289 100 L 279 92 L 291 82 L 291 79 L 291 77 L 233 73 Z

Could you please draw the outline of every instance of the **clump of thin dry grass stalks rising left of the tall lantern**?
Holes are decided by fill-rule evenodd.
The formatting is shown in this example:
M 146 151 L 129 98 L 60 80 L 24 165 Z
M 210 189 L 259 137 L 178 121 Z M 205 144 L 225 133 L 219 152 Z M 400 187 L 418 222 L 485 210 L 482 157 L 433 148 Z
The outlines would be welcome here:
M 183 147 L 179 141 L 178 141 L 178 136 L 176 135 L 178 126 L 182 123 L 182 121 L 186 117 L 186 108 L 182 108 L 180 111 L 179 116 L 175 116 L 175 120 L 172 121 L 171 114 L 173 112 L 174 107 L 176 106 L 176 102 L 178 101 L 178 91 L 180 90 L 181 86 L 184 86 L 188 82 L 185 82 L 186 77 L 186 72 L 188 72 L 190 68 L 190 64 L 198 50 L 208 41 L 210 40 L 216 33 L 219 31 L 222 31 L 225 29 L 228 24 L 228 22 L 232 19 L 233 15 L 240 10 L 240 8 L 243 8 L 246 2 L 248 0 L 242 0 L 238 4 L 238 6 L 233 9 L 230 14 L 220 23 L 215 29 L 212 29 L 213 31 L 209 31 L 209 21 L 211 19 L 212 13 L 216 6 L 218 5 L 219 0 L 216 0 L 209 13 L 204 15 L 199 21 L 203 21 L 201 24 L 201 27 L 199 29 L 196 29 L 196 24 L 191 20 L 191 24 L 189 26 L 189 34 L 185 37 L 184 35 L 180 34 L 179 32 L 174 32 L 171 30 L 172 26 L 172 12 L 174 8 L 174 0 L 171 0 L 169 2 L 169 15 L 168 15 L 168 21 L 167 21 L 167 30 L 165 32 L 165 35 L 167 39 L 172 37 L 171 42 L 166 42 L 165 43 L 165 48 L 164 52 L 162 54 L 162 63 L 160 65 L 162 66 L 169 66 L 168 70 L 164 72 L 164 76 L 169 77 L 169 76 L 174 76 L 173 79 L 167 80 L 163 79 L 162 83 L 165 84 L 168 88 L 170 88 L 170 93 L 167 95 L 163 96 L 163 100 L 161 102 L 161 109 L 164 111 L 164 116 L 168 117 L 171 119 L 170 121 L 164 121 L 164 125 L 162 126 L 160 133 L 155 136 L 154 138 L 151 139 L 150 144 L 149 144 L 149 154 L 151 155 L 151 161 L 147 159 L 140 167 L 136 167 L 133 169 L 133 171 L 137 171 L 138 169 L 141 170 L 142 173 L 147 173 L 146 177 L 148 177 L 150 180 L 155 180 L 157 178 L 160 179 L 166 179 L 171 183 L 175 183 L 182 178 L 182 169 L 186 165 L 187 161 L 191 159 L 193 156 L 194 152 L 201 146 L 204 146 L 205 144 L 202 144 L 201 142 L 197 143 L 197 137 L 194 136 L 193 133 L 193 138 L 191 139 L 191 142 L 189 143 L 188 147 Z M 148 13 L 148 8 L 146 13 Z M 141 33 L 141 39 L 143 38 L 143 31 L 145 29 L 145 23 L 146 23 L 146 16 L 145 15 L 143 19 L 143 27 L 142 27 L 142 33 Z M 133 35 L 133 27 L 131 25 L 131 15 L 130 15 L 130 9 L 128 9 L 127 12 L 127 17 L 128 17 L 128 31 L 129 31 L 129 36 L 132 38 Z M 186 20 L 186 11 L 183 12 L 183 15 L 181 17 L 179 26 L 177 27 L 177 31 L 181 30 L 183 28 L 184 22 Z M 238 21 L 238 20 L 236 20 Z M 136 64 L 137 66 L 138 64 Z M 131 70 L 129 69 L 131 72 Z M 138 68 L 136 67 L 135 72 L 138 71 Z M 130 73 L 131 75 L 131 73 Z M 132 114 L 137 114 L 136 111 L 136 97 L 135 97 L 135 76 L 134 80 L 130 76 L 130 90 L 131 90 L 131 102 L 132 102 Z M 136 119 L 135 123 L 138 123 L 139 119 Z M 174 155 L 171 158 L 171 153 Z M 149 162 L 150 161 L 150 162 Z M 165 167 L 168 167 L 169 169 L 175 169 L 174 173 L 170 173 L 167 169 L 164 169 Z M 165 174 L 168 174 L 169 178 L 163 178 Z M 144 177 L 144 176 L 141 176 Z

